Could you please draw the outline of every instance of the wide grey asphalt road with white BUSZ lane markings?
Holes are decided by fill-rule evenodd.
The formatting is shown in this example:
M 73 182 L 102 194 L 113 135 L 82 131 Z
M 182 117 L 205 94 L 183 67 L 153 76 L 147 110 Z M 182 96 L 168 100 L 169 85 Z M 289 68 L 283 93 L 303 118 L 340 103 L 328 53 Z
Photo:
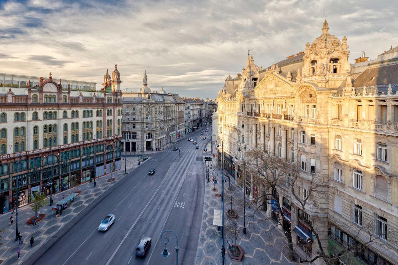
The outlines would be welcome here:
M 98 197 L 23 264 L 175 264 L 173 234 L 167 234 L 170 256 L 161 256 L 164 230 L 178 235 L 178 263 L 193 264 L 205 185 L 204 140 L 199 134 L 187 136 L 197 137 L 199 149 L 186 138 L 176 144 L 178 162 L 173 146 L 151 154 L 149 161 Z M 205 135 L 210 134 L 209 128 Z M 150 168 L 156 169 L 154 175 L 148 175 Z M 109 213 L 115 214 L 115 223 L 107 232 L 99 232 L 98 225 Z M 135 248 L 142 236 L 151 237 L 152 246 L 145 258 L 137 259 Z

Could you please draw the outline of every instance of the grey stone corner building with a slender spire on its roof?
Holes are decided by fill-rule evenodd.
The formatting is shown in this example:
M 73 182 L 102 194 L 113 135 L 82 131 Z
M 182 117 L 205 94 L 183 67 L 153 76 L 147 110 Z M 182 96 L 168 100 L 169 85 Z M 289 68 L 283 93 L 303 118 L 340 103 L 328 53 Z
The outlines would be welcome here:
M 148 87 L 146 71 L 137 92 L 123 92 L 123 150 L 162 150 L 185 135 L 185 102 L 178 94 Z

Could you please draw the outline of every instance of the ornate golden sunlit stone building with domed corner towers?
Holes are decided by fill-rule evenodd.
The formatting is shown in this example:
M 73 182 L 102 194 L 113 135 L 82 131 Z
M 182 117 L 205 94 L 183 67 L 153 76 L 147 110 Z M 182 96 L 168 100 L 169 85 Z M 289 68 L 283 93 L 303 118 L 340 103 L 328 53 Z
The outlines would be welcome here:
M 347 249 L 343 264 L 397 264 L 398 47 L 374 60 L 363 54 L 350 64 L 348 58 L 347 38 L 331 35 L 327 21 L 304 52 L 265 69 L 248 54 L 246 67 L 219 91 L 213 141 L 223 140 L 225 170 L 241 188 L 245 181 L 254 201 L 261 187 L 243 175 L 238 140 L 298 163 L 294 189 L 303 198 L 312 175 L 332 179 L 328 193 L 312 195 L 304 213 L 283 186 L 265 202 L 273 218 L 280 216 L 272 206 L 282 205 L 304 255 L 319 249 L 311 243 L 312 222 L 323 249 L 332 255 Z M 221 147 L 216 152 L 220 163 Z

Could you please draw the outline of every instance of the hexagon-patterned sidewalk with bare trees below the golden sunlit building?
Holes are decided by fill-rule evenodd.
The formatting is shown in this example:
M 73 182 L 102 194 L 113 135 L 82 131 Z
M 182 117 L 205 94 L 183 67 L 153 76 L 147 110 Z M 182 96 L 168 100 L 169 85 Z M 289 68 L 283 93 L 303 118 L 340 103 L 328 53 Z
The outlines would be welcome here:
M 213 159 L 213 166 L 216 162 Z M 218 168 L 215 166 L 215 168 Z M 224 179 L 227 182 L 224 183 L 224 192 L 228 187 L 228 177 L 224 175 Z M 199 244 L 197 249 L 197 256 L 195 260 L 196 265 L 210 265 L 210 264 L 221 264 L 221 246 L 222 238 L 217 236 L 217 227 L 213 225 L 213 212 L 215 209 L 221 210 L 221 198 L 215 197 L 216 193 L 221 193 L 221 175 L 217 176 L 217 184 L 215 185 L 216 190 L 213 191 L 214 184 L 212 181 L 210 183 L 205 180 L 205 205 L 203 209 L 202 217 L 202 227 L 201 235 L 199 238 Z M 231 187 L 235 186 L 235 180 L 231 177 Z M 238 189 L 237 199 L 243 201 L 243 192 Z M 246 197 L 248 199 L 248 197 Z M 237 240 L 243 251 L 244 257 L 242 259 L 242 264 L 253 264 L 253 265 L 264 265 L 264 264 L 298 264 L 289 261 L 284 253 L 287 253 L 286 239 L 283 232 L 279 229 L 273 229 L 270 232 L 265 232 L 270 227 L 273 227 L 271 221 L 259 221 L 260 218 L 265 217 L 265 212 L 258 210 L 253 216 L 254 207 L 248 208 L 246 206 L 246 234 L 243 234 L 243 206 L 241 203 L 235 203 L 233 208 L 238 212 L 238 217 L 236 221 L 238 222 L 241 233 L 240 238 Z M 228 210 L 230 206 L 228 203 L 224 202 L 224 212 Z M 229 236 L 232 240 L 235 240 L 232 235 L 228 234 L 227 227 L 233 218 L 228 218 L 224 214 L 224 234 Z M 235 242 L 233 242 L 235 244 Z M 232 261 L 228 254 L 228 243 L 225 240 L 225 264 L 240 264 L 239 261 Z

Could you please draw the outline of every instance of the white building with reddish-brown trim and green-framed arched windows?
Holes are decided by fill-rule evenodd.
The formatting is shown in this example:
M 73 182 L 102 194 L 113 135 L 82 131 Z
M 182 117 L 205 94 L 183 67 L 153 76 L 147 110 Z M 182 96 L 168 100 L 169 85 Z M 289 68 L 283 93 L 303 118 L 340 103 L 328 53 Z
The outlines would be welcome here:
M 120 169 L 121 90 L 115 65 L 95 83 L 0 74 L 0 213 Z M 18 176 L 18 177 L 17 177 Z M 16 191 L 18 185 L 18 194 Z

